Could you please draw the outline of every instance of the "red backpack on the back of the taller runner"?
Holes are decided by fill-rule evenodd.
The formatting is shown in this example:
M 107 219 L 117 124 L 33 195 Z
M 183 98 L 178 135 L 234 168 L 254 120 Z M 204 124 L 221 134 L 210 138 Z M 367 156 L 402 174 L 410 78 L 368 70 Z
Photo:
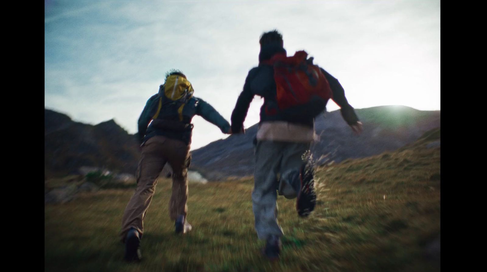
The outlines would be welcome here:
M 271 59 L 262 61 L 274 66 L 279 109 L 304 105 L 313 96 L 318 96 L 325 102 L 332 98 L 333 93 L 328 80 L 318 65 L 313 64 L 313 58 L 307 56 L 304 51 L 298 51 L 292 57 L 278 53 Z

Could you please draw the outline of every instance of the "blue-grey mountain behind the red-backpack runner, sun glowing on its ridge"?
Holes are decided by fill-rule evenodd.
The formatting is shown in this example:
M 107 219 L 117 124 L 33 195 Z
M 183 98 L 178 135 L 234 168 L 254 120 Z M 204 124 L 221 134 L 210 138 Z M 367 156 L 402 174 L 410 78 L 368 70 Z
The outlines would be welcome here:
M 320 141 L 312 146 L 318 164 L 340 162 L 396 150 L 417 140 L 423 133 L 440 127 L 440 111 L 419 111 L 406 106 L 357 109 L 364 132 L 355 136 L 339 110 L 319 116 L 315 130 Z M 231 135 L 192 152 L 191 167 L 209 180 L 253 175 L 252 140 L 257 124 L 245 135 Z

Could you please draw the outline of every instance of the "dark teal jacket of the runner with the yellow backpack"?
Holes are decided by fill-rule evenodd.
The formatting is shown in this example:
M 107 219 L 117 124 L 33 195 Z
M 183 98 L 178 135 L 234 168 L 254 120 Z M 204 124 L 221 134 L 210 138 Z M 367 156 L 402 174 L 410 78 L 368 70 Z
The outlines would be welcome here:
M 181 140 L 189 145 L 193 129 L 191 120 L 195 115 L 199 115 L 206 121 L 218 126 L 223 133 L 230 129 L 228 121 L 201 98 L 191 97 L 187 101 L 182 111 L 182 121 L 179 120 L 177 109 L 171 109 L 169 104 L 163 104 L 157 118 L 153 120 L 152 117 L 157 111 L 158 104 L 159 95 L 155 94 L 147 100 L 139 117 L 138 138 L 140 143 L 147 141 L 152 136 L 159 135 Z

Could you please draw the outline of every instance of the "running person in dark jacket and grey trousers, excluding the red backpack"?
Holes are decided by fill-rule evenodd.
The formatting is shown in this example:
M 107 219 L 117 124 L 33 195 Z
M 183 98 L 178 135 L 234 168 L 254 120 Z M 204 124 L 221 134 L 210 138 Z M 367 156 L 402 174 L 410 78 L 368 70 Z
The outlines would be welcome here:
M 264 98 L 255 139 L 252 202 L 257 235 L 267 241 L 263 253 L 274 259 L 279 257 L 280 237 L 283 235 L 277 221 L 277 194 L 297 198 L 300 216 L 307 216 L 314 210 L 316 193 L 313 167 L 302 157 L 309 151 L 311 142 L 317 139 L 314 118 L 309 116 L 318 115 L 326 105 L 322 99 L 313 99 L 306 105 L 279 110 L 274 68 L 262 62 L 275 54 L 286 54 L 282 36 L 277 31 L 270 31 L 262 34 L 259 42 L 259 66 L 252 68 L 245 79 L 244 90 L 231 116 L 231 126 L 234 133 L 242 132 L 253 97 L 258 95 Z M 333 100 L 340 106 L 342 117 L 359 134 L 362 124 L 348 103 L 342 86 L 325 70 L 321 69 L 321 72 L 330 83 Z

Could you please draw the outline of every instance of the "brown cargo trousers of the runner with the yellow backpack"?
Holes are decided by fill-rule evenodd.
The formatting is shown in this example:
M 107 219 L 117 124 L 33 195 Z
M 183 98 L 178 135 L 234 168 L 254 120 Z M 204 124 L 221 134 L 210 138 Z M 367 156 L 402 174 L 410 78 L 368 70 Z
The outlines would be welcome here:
M 164 136 L 153 136 L 142 146 L 142 155 L 137 166 L 137 189 L 127 204 L 122 219 L 122 242 L 127 232 L 134 228 L 142 237 L 144 217 L 157 185 L 157 177 L 164 165 L 172 168 L 172 195 L 169 200 L 169 216 L 176 220 L 179 214 L 187 215 L 187 168 L 191 161 L 189 145 Z

